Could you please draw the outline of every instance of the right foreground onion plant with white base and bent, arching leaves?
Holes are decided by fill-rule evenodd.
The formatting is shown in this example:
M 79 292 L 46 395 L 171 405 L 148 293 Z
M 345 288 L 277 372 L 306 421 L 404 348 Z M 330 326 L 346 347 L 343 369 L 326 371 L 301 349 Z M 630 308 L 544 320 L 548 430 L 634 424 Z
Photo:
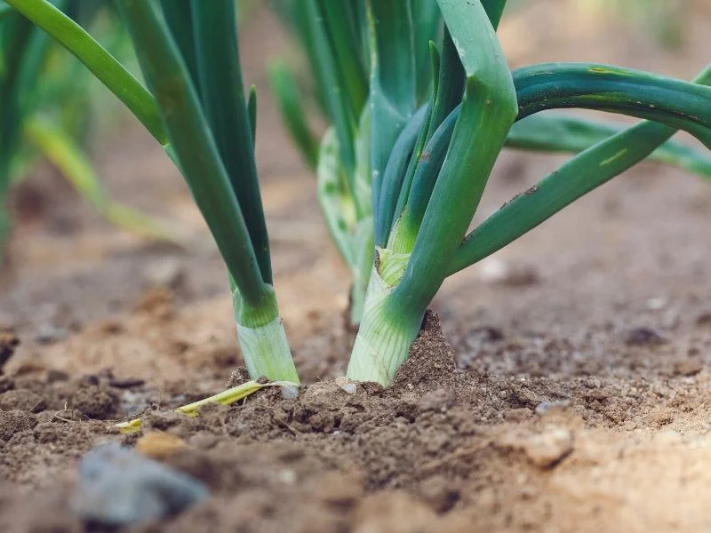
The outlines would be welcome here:
M 446 31 L 442 52 L 433 53 L 439 76 L 435 73 L 437 81 L 428 104 L 432 111 L 423 106 L 419 113 L 411 113 L 391 141 L 387 164 L 379 163 L 382 143 L 373 144 L 371 152 L 372 167 L 386 171 L 379 182 L 372 182 L 376 259 L 348 378 L 384 386 L 407 358 L 427 306 L 448 275 L 499 250 L 579 196 L 654 154 L 678 129 L 711 147 L 711 91 L 703 86 L 711 81 L 709 68 L 696 84 L 606 65 L 536 65 L 512 73 L 498 62 L 502 54 L 494 34 L 504 2 L 439 0 L 438 4 Z M 387 18 L 381 12 L 380 28 L 371 27 L 376 43 L 392 38 L 383 20 Z M 459 83 L 458 61 L 465 73 L 463 83 Z M 382 68 L 377 53 L 371 68 L 376 72 Z M 443 68 L 448 72 L 443 73 Z M 377 98 L 379 90 L 371 84 L 371 98 Z M 438 109 L 438 101 L 449 102 L 446 113 Z M 576 139 L 578 144 L 571 141 L 568 145 L 565 139 L 543 141 L 540 132 L 515 131 L 516 121 L 560 107 L 587 107 L 651 122 L 605 131 L 566 119 L 569 122 L 564 126 L 574 124 L 587 130 Z M 428 113 L 428 123 L 419 122 L 421 113 Z M 544 132 L 545 127 L 560 124 L 544 122 Z M 409 128 L 419 130 L 419 139 L 425 142 L 413 146 Z M 493 162 L 512 138 L 512 131 L 520 145 L 557 145 L 579 155 L 465 237 Z M 666 145 L 658 154 L 677 157 L 684 152 L 677 145 Z M 409 165 L 401 163 L 408 158 Z M 411 172 L 414 167 L 411 179 L 403 171 L 408 166 Z M 703 164 L 694 168 L 703 174 Z M 389 169 L 394 171 L 388 173 Z M 390 198 L 395 196 L 393 212 Z

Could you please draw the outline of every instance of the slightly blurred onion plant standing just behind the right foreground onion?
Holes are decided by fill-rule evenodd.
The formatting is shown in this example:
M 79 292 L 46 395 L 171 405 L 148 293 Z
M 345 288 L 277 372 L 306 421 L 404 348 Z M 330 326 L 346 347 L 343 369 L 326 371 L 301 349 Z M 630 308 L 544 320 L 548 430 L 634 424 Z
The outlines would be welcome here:
M 410 157 L 408 150 L 417 147 L 421 155 L 422 143 L 431 140 L 444 115 L 461 99 L 464 73 L 459 67 L 451 35 L 443 31 L 441 12 L 435 0 L 402 2 L 399 12 L 389 12 L 394 8 L 373 3 L 371 19 L 363 0 L 340 3 L 273 0 L 273 4 L 301 45 L 313 83 L 306 84 L 306 91 L 300 89 L 305 84 L 294 75 L 294 69 L 283 60 L 275 60 L 269 66 L 272 88 L 287 131 L 304 161 L 316 171 L 324 218 L 352 275 L 349 314 L 351 324 L 357 327 L 373 261 L 373 214 L 376 219 L 379 214 L 385 217 L 379 219 L 378 228 L 379 246 L 382 246 L 382 234 L 394 221 L 391 219 L 403 212 L 418 168 L 417 160 Z M 483 0 L 482 4 L 485 11 L 500 16 L 502 3 Z M 393 5 L 398 7 L 397 3 Z M 378 28 L 382 31 L 377 31 Z M 434 44 L 440 40 L 443 40 L 441 49 Z M 375 55 L 371 54 L 373 48 Z M 396 53 L 388 53 L 390 50 Z M 386 77 L 403 76 L 400 80 L 403 89 L 398 91 L 405 92 L 391 98 L 392 95 L 379 90 L 378 84 L 390 83 L 379 73 Z M 456 77 L 452 80 L 450 76 Z M 443 92 L 437 94 L 440 81 Z M 316 102 L 315 108 L 310 105 L 312 101 Z M 373 108 L 378 118 L 371 119 Z M 330 124 L 323 139 L 317 139 L 313 133 L 312 115 L 316 109 Z M 404 148 L 406 154 L 393 161 L 388 175 L 390 179 L 393 174 L 402 174 L 403 187 L 395 191 L 397 197 L 392 190 L 380 197 L 376 187 L 375 197 L 373 176 L 385 171 L 385 162 L 395 147 L 395 133 L 403 129 L 403 123 L 410 117 L 413 120 L 407 124 L 407 133 L 396 150 Z M 454 119 L 452 115 L 450 127 Z M 423 127 L 425 121 L 427 125 Z M 373 122 L 378 135 L 371 139 Z M 504 146 L 577 154 L 619 131 L 618 125 L 571 115 L 531 115 L 514 123 Z M 418 139 L 419 132 L 423 138 Z M 443 142 L 439 146 L 445 149 L 448 145 Z M 381 155 L 377 155 L 378 151 Z M 429 156 L 427 151 L 424 153 Z M 379 158 L 380 162 L 371 167 L 372 157 Z M 684 144 L 667 141 L 650 157 L 711 180 L 711 157 Z M 420 172 L 427 168 L 422 166 Z M 414 200 L 415 204 L 407 211 L 408 217 L 412 210 L 422 211 L 422 203 L 427 200 L 427 194 Z M 411 223 L 409 218 L 403 221 L 403 224 Z

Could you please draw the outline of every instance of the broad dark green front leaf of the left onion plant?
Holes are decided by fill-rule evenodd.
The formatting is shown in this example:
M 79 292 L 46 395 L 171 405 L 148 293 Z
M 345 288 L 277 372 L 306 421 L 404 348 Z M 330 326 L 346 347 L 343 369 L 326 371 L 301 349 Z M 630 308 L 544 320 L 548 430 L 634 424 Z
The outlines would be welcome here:
M 180 169 L 242 296 L 259 306 L 269 298 L 268 287 L 180 51 L 152 3 L 122 0 L 119 6 L 144 75 L 156 90 Z

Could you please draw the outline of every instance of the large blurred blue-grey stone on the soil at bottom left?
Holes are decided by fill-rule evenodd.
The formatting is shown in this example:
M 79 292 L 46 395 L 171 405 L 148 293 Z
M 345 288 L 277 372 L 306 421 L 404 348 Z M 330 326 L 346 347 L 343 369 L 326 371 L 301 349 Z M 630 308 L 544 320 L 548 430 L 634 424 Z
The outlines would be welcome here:
M 111 442 L 82 458 L 71 506 L 84 521 L 122 527 L 178 514 L 208 494 L 192 476 Z

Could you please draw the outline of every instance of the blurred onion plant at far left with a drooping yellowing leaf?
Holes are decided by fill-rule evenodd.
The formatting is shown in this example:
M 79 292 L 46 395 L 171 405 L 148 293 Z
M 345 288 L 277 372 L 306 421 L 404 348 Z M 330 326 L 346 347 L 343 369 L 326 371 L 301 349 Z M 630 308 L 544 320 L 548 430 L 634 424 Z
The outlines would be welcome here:
M 109 48 L 121 49 L 124 39 L 110 18 L 107 2 L 55 0 L 53 4 L 87 27 L 103 21 Z M 8 190 L 27 175 L 37 155 L 44 155 L 112 224 L 173 240 L 162 224 L 112 201 L 101 186 L 82 147 L 90 126 L 91 78 L 58 48 L 42 29 L 8 4 L 0 4 L 0 257 L 10 226 L 5 205 Z

